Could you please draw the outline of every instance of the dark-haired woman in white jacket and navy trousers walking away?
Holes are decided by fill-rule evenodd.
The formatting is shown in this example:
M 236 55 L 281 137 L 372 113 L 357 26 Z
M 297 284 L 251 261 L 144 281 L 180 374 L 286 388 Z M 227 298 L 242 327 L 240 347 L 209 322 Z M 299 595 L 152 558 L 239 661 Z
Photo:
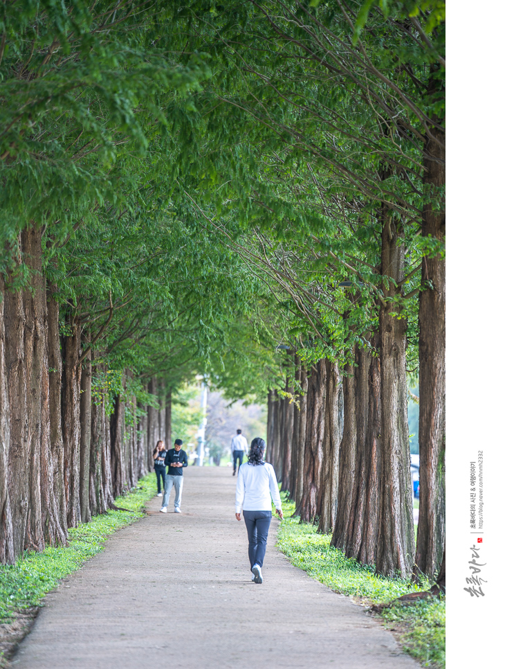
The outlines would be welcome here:
M 255 583 L 263 582 L 261 567 L 266 551 L 266 539 L 272 520 L 272 502 L 282 519 L 281 497 L 275 472 L 270 463 L 263 459 L 266 444 L 256 437 L 250 443 L 248 462 L 240 467 L 235 493 L 235 517 L 240 520 L 241 512 L 246 521 L 249 539 L 250 571 Z

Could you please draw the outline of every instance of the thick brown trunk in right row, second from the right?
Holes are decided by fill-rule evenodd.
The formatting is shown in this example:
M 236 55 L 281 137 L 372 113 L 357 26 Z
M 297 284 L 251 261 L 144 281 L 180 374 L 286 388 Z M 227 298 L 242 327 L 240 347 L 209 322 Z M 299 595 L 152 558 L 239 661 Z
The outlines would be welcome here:
M 406 578 L 412 570 L 415 550 L 405 377 L 407 322 L 392 315 L 401 314 L 401 306 L 392 298 L 398 296 L 394 283 L 403 279 L 405 247 L 403 231 L 396 226 L 391 213 L 385 212 L 383 220 L 381 273 L 386 277 L 383 283 L 386 305 L 381 305 L 379 313 L 383 452 L 376 570 L 384 576 L 400 573 Z

